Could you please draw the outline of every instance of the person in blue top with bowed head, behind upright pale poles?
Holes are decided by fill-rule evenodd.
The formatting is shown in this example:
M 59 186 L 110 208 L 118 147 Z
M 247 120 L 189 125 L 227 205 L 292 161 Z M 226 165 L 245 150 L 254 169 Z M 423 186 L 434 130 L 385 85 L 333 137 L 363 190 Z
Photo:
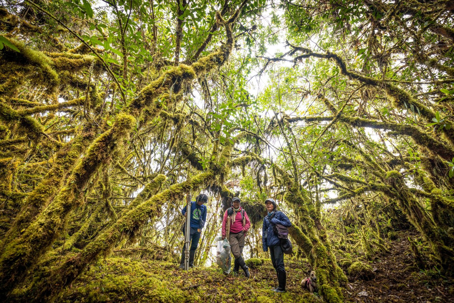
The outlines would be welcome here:
M 207 206 L 204 205 L 208 202 L 208 196 L 206 194 L 199 194 L 195 201 L 191 201 L 191 222 L 189 230 L 189 241 L 191 247 L 189 248 L 189 267 L 194 267 L 194 255 L 198 246 L 198 241 L 200 240 L 200 235 L 202 234 L 202 228 L 205 226 L 205 221 L 207 220 Z M 181 210 L 181 214 L 186 216 L 187 205 Z M 183 225 L 183 235 L 185 234 L 184 225 Z M 183 251 L 181 253 L 180 269 L 184 269 L 184 251 L 185 247 L 183 245 Z

